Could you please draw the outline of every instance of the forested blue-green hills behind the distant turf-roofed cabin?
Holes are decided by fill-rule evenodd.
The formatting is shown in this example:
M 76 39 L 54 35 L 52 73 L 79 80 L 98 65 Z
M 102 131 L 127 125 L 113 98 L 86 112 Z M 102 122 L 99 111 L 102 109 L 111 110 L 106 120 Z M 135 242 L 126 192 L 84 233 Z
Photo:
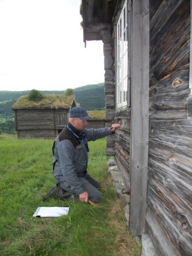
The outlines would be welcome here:
M 65 91 L 41 91 L 43 94 L 63 94 Z M 87 110 L 105 110 L 104 83 L 88 84 L 74 89 L 76 102 Z M 0 91 L 0 116 L 13 115 L 11 106 L 29 91 Z

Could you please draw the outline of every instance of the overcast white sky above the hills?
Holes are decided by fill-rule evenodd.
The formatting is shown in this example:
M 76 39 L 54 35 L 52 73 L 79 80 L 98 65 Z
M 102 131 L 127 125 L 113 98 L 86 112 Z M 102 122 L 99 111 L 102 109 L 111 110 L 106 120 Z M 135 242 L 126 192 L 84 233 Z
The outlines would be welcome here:
M 0 0 L 0 91 L 104 82 L 101 41 L 83 43 L 80 0 Z

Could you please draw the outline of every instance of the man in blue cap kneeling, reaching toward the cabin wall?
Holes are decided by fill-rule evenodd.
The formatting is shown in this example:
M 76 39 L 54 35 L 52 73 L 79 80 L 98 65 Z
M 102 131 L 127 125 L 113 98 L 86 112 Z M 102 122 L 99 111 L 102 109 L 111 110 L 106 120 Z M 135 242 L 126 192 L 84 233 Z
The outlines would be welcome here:
M 53 144 L 53 173 L 57 188 L 70 192 L 72 197 L 76 197 L 76 201 L 100 202 L 103 196 L 98 190 L 100 184 L 87 173 L 87 153 L 89 152 L 87 142 L 114 133 L 120 125 L 112 124 L 111 128 L 86 129 L 89 119 L 91 116 L 82 107 L 74 107 L 70 110 L 69 123 Z M 54 198 L 61 197 L 61 193 L 58 197 L 54 196 Z

